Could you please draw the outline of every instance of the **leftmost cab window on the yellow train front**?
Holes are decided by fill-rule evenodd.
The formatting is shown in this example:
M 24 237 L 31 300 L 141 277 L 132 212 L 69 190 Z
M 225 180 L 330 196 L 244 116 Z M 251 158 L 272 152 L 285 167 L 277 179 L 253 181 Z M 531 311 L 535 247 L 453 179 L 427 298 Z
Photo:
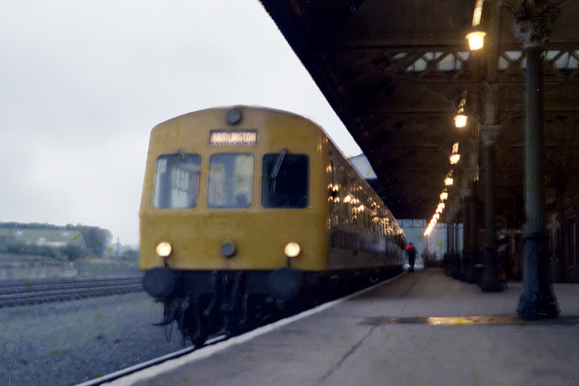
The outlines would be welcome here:
M 189 209 L 197 205 L 201 156 L 170 154 L 156 162 L 153 207 L 156 209 Z

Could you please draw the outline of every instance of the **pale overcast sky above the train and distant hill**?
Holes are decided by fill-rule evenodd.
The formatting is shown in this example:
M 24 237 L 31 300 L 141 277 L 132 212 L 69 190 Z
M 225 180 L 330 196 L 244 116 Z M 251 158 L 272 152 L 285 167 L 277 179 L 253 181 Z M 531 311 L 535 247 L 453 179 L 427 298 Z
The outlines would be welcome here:
M 139 241 L 151 128 L 218 105 L 290 110 L 360 150 L 257 0 L 0 1 L 0 221 Z

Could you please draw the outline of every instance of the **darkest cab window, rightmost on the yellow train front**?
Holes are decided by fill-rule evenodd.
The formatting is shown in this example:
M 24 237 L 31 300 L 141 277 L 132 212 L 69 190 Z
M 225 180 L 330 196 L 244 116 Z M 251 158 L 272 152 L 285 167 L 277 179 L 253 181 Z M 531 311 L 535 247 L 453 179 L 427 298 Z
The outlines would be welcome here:
M 263 156 L 261 203 L 263 207 L 307 206 L 309 160 L 305 154 L 285 150 Z

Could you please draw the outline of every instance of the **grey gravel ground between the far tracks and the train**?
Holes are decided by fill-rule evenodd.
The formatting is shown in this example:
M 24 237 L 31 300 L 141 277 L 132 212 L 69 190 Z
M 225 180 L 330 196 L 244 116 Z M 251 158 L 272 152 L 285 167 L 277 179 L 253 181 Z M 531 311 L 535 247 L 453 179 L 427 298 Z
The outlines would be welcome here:
M 185 347 L 144 292 L 0 309 L 0 385 L 77 385 Z

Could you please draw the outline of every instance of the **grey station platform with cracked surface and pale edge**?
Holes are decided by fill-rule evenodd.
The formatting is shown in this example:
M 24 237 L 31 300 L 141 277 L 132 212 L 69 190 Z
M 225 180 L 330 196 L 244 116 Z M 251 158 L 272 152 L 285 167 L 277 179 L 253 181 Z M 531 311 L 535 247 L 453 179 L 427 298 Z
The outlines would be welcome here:
M 416 270 L 108 385 L 578 385 L 579 285 L 553 292 L 559 318 L 522 321 L 520 283 Z

